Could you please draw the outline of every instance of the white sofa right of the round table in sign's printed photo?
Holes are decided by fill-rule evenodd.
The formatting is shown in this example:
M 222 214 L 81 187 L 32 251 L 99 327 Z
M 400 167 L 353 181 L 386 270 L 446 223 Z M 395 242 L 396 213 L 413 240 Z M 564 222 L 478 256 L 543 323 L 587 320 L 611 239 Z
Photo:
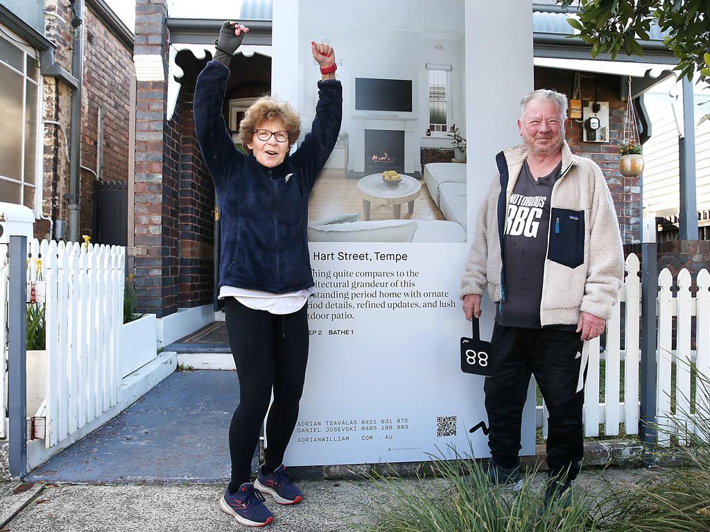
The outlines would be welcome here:
M 466 165 L 430 162 L 424 166 L 424 182 L 444 218 L 466 229 Z

